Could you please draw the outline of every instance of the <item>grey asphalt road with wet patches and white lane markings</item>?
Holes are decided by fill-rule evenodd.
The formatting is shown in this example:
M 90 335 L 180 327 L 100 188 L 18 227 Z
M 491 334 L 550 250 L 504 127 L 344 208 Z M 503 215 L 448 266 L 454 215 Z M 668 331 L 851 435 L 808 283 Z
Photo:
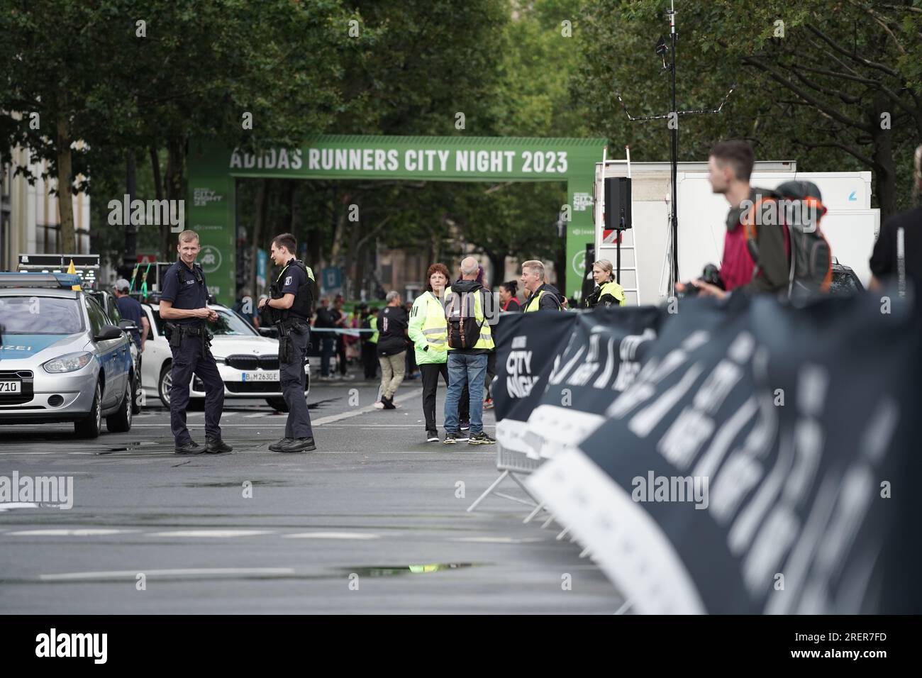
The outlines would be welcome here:
M 621 596 L 559 527 L 489 498 L 494 446 L 426 443 L 420 382 L 314 382 L 317 450 L 284 414 L 226 401 L 230 455 L 173 454 L 160 401 L 128 434 L 0 427 L 0 476 L 73 476 L 74 506 L 0 510 L 2 613 L 613 613 Z M 438 403 L 442 422 L 443 392 Z M 190 412 L 204 443 L 204 413 Z M 494 419 L 485 413 L 492 433 Z M 509 494 L 524 496 L 508 483 Z M 458 496 L 460 494 L 463 496 Z M 245 496 L 252 494 L 252 496 Z M 0 509 L 4 507 L 0 505 Z M 556 529 L 555 529 L 556 528 Z

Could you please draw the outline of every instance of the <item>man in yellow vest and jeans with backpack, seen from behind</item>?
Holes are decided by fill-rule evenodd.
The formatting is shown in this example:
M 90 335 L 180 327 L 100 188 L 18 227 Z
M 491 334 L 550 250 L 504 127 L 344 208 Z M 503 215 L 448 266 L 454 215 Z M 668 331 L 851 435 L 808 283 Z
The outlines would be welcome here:
M 487 357 L 493 347 L 490 318 L 492 295 L 477 281 L 478 264 L 473 256 L 461 262 L 461 280 L 445 288 L 444 307 L 448 329 L 448 394 L 445 396 L 445 445 L 463 439 L 458 425 L 458 403 L 468 387 L 470 432 L 467 445 L 491 445 L 494 438 L 483 432 L 483 383 Z

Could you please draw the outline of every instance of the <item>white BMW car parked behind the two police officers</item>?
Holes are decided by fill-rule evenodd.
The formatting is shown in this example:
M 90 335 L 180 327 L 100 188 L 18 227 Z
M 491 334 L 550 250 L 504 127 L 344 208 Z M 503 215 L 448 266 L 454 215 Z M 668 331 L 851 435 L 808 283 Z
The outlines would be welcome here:
M 164 335 L 164 321 L 160 318 L 160 303 L 142 303 L 148 315 L 150 329 L 144 346 L 141 366 L 142 390 L 145 398 L 160 398 L 170 406 L 172 386 L 172 352 Z M 262 336 L 241 315 L 227 306 L 209 303 L 208 308 L 218 313 L 218 320 L 207 323 L 215 336 L 211 340 L 211 354 L 218 363 L 218 372 L 224 381 L 224 398 L 262 398 L 269 407 L 288 411 L 282 398 L 278 375 L 278 339 Z M 304 365 L 304 396 L 311 390 L 310 363 Z M 193 375 L 189 398 L 202 401 L 205 385 Z

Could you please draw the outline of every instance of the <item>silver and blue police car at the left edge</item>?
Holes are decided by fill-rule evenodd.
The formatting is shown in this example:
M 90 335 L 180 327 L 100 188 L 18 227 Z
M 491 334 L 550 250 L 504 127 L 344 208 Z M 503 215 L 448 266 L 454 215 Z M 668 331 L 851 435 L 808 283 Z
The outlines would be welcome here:
M 102 418 L 131 430 L 131 339 L 80 279 L 0 273 L 0 423 L 74 422 L 95 438 Z

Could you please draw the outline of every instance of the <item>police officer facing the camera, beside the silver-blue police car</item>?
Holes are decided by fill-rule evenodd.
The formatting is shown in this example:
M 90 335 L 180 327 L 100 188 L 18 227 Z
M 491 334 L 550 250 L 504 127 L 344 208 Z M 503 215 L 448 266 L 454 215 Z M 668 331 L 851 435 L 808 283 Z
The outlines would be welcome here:
M 170 334 L 173 358 L 170 426 L 176 439 L 175 451 L 178 455 L 230 452 L 233 448 L 221 440 L 219 426 L 224 407 L 224 382 L 211 355 L 211 334 L 205 325 L 206 320 L 217 320 L 218 314 L 207 306 L 205 274 L 202 267 L 195 263 L 195 257 L 202 249 L 198 233 L 180 233 L 176 249 L 179 260 L 167 268 L 160 286 L 160 317 L 166 322 Z M 205 447 L 195 443 L 185 425 L 193 373 L 205 384 Z

